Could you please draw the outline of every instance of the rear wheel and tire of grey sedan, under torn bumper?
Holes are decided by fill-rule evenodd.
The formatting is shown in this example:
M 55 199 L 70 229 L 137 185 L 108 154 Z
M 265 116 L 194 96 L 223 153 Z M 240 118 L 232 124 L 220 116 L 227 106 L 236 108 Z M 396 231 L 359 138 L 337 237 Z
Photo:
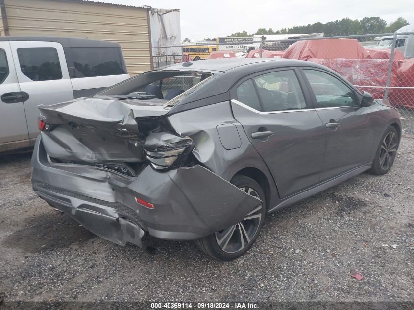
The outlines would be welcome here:
M 243 220 L 227 229 L 195 240 L 195 243 L 204 253 L 220 261 L 231 261 L 246 253 L 259 236 L 266 216 L 265 193 L 255 180 L 244 175 L 235 175 L 230 182 L 245 192 L 254 196 L 257 195 L 262 200 L 262 203 L 259 210 L 255 208 L 251 213 L 247 214 L 251 214 L 249 217 L 253 217 L 252 219 Z M 227 232 L 230 232 L 233 227 L 235 227 L 233 232 L 231 235 L 229 233 L 229 237 L 226 238 Z M 221 236 L 223 237 L 221 238 Z M 220 241 L 222 242 L 219 245 Z M 248 242 L 245 244 L 244 241 Z M 238 246 L 240 246 L 240 249 L 238 249 Z

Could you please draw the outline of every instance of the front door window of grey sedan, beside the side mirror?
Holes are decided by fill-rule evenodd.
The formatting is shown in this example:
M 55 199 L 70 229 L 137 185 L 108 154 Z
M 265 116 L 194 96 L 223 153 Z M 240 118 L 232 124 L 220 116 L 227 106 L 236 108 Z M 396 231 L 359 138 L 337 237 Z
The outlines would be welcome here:
M 336 77 L 318 70 L 305 69 L 317 106 L 321 108 L 358 105 L 354 91 Z

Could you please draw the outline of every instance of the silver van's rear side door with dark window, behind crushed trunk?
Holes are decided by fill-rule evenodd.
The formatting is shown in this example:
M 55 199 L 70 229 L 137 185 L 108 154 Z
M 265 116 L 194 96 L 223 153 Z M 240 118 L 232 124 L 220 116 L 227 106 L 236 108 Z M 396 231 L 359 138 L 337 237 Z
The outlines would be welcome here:
M 73 99 L 65 53 L 57 42 L 12 41 L 10 47 L 20 89 L 29 95 L 24 101 L 29 138 L 36 138 L 37 106 Z

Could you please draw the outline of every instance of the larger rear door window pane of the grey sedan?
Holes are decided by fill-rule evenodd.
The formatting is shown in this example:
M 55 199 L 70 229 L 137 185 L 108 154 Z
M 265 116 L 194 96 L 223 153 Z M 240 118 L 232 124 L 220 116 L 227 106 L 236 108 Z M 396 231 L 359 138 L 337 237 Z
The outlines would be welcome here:
M 306 108 L 305 98 L 293 70 L 266 73 L 253 80 L 265 112 Z

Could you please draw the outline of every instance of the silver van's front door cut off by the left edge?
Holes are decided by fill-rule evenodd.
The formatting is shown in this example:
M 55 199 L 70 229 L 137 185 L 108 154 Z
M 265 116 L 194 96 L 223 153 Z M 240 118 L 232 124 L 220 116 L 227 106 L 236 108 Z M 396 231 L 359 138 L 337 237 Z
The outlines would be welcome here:
M 15 148 L 14 141 L 22 141 L 21 147 L 30 146 L 23 100 L 14 68 L 8 41 L 0 42 L 0 152 Z M 7 143 L 7 144 L 5 144 Z M 27 144 L 27 145 L 24 145 Z

